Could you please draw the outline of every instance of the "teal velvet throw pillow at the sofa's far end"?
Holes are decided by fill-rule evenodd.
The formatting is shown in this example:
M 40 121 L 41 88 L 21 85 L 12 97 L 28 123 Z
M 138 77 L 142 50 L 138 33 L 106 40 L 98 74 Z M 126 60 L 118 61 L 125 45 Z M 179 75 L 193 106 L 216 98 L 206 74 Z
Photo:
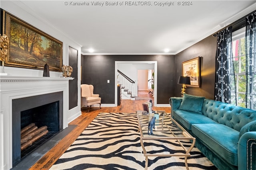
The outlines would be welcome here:
M 179 109 L 201 113 L 204 99 L 204 97 L 192 96 L 185 93 Z

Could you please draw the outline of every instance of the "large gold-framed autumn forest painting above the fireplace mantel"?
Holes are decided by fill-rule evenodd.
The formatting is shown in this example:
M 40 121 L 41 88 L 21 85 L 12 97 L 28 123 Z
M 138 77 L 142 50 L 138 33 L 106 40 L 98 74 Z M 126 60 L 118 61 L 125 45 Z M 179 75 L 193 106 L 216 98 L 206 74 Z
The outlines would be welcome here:
M 63 43 L 25 21 L 3 11 L 3 32 L 9 37 L 5 65 L 61 71 Z

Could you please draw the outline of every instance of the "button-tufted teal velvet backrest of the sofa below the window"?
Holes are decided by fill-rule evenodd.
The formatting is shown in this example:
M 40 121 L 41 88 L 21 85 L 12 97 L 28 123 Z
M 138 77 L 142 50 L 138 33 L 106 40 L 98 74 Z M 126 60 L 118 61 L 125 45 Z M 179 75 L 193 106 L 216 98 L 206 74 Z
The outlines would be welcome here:
M 247 123 L 256 120 L 256 110 L 205 99 L 202 106 L 203 115 L 210 119 L 231 127 L 236 131 Z

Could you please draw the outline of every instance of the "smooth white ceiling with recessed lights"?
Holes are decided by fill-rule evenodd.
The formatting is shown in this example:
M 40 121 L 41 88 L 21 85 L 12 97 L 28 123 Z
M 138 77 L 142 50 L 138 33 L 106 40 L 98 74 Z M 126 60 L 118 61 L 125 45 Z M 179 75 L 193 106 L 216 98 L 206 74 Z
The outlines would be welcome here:
M 72 5 L 72 2 L 89 5 Z M 150 6 L 106 6 L 105 2 L 22 0 L 18 4 L 80 44 L 82 54 L 88 54 L 90 48 L 94 54 L 163 54 L 166 48 L 170 49 L 167 54 L 176 54 L 256 10 L 256 0 L 192 0 L 189 6 L 177 5 L 181 1 L 176 0 L 149 1 Z M 154 2 L 174 5 L 158 6 Z

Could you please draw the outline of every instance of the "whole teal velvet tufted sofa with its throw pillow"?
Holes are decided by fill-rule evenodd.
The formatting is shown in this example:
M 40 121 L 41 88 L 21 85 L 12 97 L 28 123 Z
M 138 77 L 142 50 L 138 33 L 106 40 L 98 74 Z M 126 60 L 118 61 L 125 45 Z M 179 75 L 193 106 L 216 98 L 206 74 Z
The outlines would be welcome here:
M 256 110 L 184 94 L 169 99 L 172 117 L 220 170 L 256 170 Z

